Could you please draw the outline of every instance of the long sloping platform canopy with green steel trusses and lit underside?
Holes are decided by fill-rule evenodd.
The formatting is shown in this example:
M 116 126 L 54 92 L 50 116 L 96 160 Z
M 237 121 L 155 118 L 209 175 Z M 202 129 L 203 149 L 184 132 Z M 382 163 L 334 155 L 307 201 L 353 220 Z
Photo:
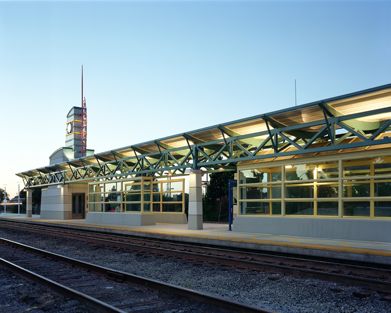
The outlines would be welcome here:
M 186 169 L 390 147 L 391 84 L 176 134 L 17 174 L 28 187 L 167 177 Z

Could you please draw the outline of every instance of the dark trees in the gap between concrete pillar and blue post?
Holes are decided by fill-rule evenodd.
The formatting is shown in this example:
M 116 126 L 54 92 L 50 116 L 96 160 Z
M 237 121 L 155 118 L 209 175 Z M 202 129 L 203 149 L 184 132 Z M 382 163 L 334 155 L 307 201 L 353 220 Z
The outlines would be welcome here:
M 202 211 L 204 221 L 228 221 L 229 179 L 234 179 L 235 171 L 210 174 L 209 185 L 203 198 Z M 220 214 L 221 208 L 221 214 Z

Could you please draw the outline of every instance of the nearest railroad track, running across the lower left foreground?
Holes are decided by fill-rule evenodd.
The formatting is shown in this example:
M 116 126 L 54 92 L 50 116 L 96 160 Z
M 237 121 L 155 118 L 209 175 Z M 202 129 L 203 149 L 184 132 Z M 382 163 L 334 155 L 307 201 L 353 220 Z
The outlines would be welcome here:
M 92 312 L 124 313 L 127 312 L 123 310 L 126 308 L 137 312 L 134 311 L 134 307 L 143 307 L 143 313 L 154 313 L 191 306 L 201 307 L 203 312 L 214 313 L 226 312 L 220 308 L 243 313 L 273 312 L 93 265 L 3 238 L 0 238 L 0 242 L 2 268 L 11 270 L 51 291 L 78 300 Z M 145 306 L 149 309 L 145 309 Z

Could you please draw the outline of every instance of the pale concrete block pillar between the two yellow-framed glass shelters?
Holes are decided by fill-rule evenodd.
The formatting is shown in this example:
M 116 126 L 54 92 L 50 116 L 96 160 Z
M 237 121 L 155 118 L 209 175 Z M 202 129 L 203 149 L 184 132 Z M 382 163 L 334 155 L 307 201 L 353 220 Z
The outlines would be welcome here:
M 202 171 L 189 175 L 189 217 L 188 229 L 202 229 Z

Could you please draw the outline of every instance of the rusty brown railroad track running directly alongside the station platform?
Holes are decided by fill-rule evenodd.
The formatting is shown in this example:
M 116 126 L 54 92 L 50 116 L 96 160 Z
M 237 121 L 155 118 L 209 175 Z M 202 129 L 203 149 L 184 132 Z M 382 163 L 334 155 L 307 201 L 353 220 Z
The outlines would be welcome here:
M 217 248 L 140 240 L 107 234 L 78 232 L 29 225 L 28 228 L 6 224 L 39 233 L 82 240 L 89 244 L 127 249 L 148 256 L 165 256 L 188 263 L 206 263 L 224 269 L 255 270 L 301 278 L 315 278 L 383 293 L 391 293 L 391 270 L 348 264 L 265 255 Z

